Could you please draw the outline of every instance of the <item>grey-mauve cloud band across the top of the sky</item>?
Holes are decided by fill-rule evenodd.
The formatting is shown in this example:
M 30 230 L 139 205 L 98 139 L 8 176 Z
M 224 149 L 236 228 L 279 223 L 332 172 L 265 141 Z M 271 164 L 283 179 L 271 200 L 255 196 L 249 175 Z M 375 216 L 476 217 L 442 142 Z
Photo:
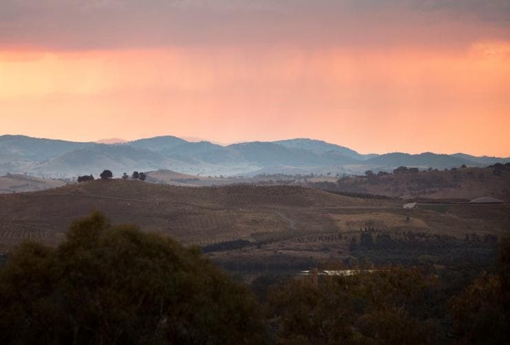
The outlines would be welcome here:
M 448 46 L 509 38 L 507 0 L 0 2 L 1 46 Z

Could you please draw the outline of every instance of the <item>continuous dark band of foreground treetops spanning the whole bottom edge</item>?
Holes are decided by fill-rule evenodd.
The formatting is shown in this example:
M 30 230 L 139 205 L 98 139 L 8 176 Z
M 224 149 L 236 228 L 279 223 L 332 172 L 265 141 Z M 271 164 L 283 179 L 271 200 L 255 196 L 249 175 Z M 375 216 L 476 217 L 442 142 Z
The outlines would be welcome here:
M 0 268 L 0 342 L 507 343 L 509 238 L 494 274 L 453 293 L 438 286 L 417 267 L 380 267 L 280 279 L 255 290 L 257 302 L 198 248 L 93 213 L 57 248 L 21 244 Z M 439 304 L 449 315 L 439 317 Z

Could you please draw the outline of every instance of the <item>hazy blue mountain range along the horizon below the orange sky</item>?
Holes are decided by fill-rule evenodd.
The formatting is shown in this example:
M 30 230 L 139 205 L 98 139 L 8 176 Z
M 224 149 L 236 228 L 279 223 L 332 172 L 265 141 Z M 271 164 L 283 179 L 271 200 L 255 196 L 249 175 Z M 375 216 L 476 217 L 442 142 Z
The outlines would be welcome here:
M 210 141 L 187 141 L 173 136 L 118 144 L 0 136 L 0 175 L 27 173 L 40 177 L 99 175 L 103 169 L 119 176 L 133 170 L 169 169 L 192 175 L 261 175 L 265 173 L 363 174 L 398 166 L 452 168 L 487 166 L 510 158 L 475 157 L 463 153 L 410 155 L 392 152 L 362 155 L 355 150 L 313 139 L 252 141 L 221 146 Z

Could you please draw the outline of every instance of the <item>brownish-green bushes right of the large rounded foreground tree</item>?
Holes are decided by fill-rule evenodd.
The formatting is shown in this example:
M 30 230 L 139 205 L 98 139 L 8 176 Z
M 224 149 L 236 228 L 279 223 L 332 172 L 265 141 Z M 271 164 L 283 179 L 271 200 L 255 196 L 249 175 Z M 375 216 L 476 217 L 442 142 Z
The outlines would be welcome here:
M 277 343 L 435 344 L 436 325 L 419 309 L 429 284 L 399 268 L 294 280 L 269 297 Z

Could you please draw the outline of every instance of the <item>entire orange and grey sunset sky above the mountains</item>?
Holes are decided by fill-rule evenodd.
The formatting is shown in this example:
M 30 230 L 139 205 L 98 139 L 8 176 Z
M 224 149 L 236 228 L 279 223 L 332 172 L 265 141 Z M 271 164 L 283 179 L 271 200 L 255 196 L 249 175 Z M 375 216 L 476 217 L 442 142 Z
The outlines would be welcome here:
M 510 157 L 510 1 L 1 0 L 2 134 Z

